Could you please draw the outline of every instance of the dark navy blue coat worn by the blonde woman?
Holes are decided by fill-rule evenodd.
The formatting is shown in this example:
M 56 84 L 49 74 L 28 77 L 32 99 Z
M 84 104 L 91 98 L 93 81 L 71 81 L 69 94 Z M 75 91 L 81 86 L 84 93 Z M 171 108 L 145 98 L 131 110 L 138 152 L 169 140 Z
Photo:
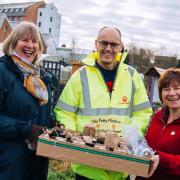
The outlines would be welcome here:
M 45 73 L 42 80 L 49 102 L 40 106 L 23 87 L 23 74 L 10 56 L 0 58 L 0 180 L 44 180 L 48 159 L 36 156 L 25 139 L 31 125 L 50 126 L 51 83 Z

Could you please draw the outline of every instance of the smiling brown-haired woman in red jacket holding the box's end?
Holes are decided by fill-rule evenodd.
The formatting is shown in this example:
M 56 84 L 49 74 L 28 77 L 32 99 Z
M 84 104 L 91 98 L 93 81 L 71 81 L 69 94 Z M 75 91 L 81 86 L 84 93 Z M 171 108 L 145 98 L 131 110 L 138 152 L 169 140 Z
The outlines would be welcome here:
M 167 70 L 158 89 L 164 107 L 154 114 L 146 134 L 148 145 L 156 152 L 148 179 L 180 180 L 180 69 Z

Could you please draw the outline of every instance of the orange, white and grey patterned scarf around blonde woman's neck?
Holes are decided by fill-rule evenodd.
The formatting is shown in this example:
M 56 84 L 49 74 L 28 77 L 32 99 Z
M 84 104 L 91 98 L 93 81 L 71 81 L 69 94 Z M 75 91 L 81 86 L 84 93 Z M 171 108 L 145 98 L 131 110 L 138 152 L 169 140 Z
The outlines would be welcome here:
M 48 103 L 48 92 L 46 85 L 40 79 L 40 73 L 38 66 L 32 64 L 31 62 L 19 57 L 16 52 L 11 55 L 12 60 L 22 71 L 24 75 L 23 86 L 26 90 L 38 99 L 40 105 Z

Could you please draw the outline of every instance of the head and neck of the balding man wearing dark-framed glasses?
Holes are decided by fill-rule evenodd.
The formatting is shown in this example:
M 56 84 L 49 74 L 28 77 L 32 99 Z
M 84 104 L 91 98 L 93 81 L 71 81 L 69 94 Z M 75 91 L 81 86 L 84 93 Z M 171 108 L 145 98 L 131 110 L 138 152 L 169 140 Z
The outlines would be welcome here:
M 115 28 L 102 29 L 95 45 L 100 57 L 98 63 L 105 69 L 113 69 L 116 65 L 116 55 L 121 50 L 120 32 Z

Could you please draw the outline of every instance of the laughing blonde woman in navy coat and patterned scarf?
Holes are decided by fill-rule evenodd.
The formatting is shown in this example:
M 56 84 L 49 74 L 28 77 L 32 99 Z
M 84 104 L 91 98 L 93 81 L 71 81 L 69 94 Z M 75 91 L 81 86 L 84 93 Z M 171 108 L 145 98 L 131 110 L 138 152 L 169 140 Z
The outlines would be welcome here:
M 51 85 L 39 68 L 37 27 L 21 22 L 0 57 L 0 179 L 45 180 L 48 159 L 36 156 L 38 136 L 50 126 Z

